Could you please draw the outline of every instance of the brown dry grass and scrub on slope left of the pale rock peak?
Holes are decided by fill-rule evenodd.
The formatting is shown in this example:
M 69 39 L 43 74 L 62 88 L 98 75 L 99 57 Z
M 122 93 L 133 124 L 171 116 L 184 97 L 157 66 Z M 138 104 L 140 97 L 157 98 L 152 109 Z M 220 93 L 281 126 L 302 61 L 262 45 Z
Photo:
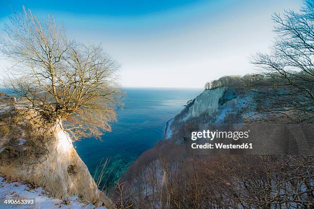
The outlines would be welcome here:
M 45 160 L 48 151 L 45 129 L 34 128 L 18 111 L 0 115 L 0 164 L 38 163 Z M 20 139 L 25 140 L 20 144 Z M 47 139 L 46 139 L 47 140 Z

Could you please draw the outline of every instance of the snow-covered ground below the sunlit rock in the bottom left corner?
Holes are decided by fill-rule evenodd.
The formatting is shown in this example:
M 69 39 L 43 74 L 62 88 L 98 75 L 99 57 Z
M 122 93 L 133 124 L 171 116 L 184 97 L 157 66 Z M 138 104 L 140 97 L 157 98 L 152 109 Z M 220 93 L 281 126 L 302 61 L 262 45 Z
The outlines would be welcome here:
M 69 198 L 68 205 L 60 199 L 48 197 L 47 193 L 42 187 L 30 189 L 29 185 L 21 182 L 7 182 L 0 176 L 0 208 L 102 208 L 106 207 L 95 207 L 92 204 L 85 204 L 78 200 L 77 196 Z M 4 205 L 5 199 L 25 199 L 34 198 L 35 206 L 17 206 L 17 205 Z

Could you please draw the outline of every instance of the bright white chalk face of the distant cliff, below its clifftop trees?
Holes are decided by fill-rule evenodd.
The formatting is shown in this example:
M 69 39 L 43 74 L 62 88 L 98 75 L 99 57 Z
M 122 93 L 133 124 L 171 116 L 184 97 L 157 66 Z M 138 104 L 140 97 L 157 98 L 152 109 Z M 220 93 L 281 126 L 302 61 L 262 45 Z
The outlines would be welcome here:
M 204 112 L 211 115 L 213 112 L 217 111 L 219 99 L 223 96 L 225 90 L 226 87 L 204 90 L 203 93 L 195 98 L 194 104 L 189 108 L 187 116 L 183 121 L 198 117 Z

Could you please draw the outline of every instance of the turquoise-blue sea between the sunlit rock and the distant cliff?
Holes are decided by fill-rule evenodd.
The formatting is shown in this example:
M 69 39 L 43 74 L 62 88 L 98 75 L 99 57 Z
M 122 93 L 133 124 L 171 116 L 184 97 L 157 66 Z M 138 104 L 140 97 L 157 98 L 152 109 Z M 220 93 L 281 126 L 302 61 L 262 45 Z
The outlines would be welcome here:
M 124 90 L 127 92 L 125 107 L 117 110 L 118 121 L 112 124 L 112 131 L 107 132 L 102 140 L 74 142 L 78 155 L 92 176 L 102 159 L 110 158 L 106 166 L 106 185 L 112 185 L 136 158 L 161 140 L 166 122 L 203 89 Z

